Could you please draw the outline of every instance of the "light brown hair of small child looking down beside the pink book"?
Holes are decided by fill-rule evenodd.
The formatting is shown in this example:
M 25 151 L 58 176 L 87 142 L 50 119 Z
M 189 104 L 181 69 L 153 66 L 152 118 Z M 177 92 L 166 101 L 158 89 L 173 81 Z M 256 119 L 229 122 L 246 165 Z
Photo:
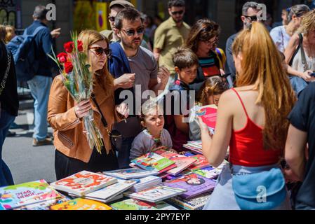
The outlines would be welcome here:
M 210 104 L 209 97 L 222 94 L 229 89 L 229 85 L 220 76 L 207 78 L 197 93 L 196 100 L 203 106 Z

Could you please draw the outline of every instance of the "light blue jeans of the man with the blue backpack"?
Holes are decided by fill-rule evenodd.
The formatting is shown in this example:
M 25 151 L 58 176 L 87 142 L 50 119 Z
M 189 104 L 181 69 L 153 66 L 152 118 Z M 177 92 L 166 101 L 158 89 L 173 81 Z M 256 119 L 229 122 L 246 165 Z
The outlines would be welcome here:
M 48 76 L 34 76 L 27 81 L 29 90 L 34 98 L 34 134 L 33 138 L 37 141 L 46 139 L 48 132 L 47 107 L 49 92 L 53 79 Z

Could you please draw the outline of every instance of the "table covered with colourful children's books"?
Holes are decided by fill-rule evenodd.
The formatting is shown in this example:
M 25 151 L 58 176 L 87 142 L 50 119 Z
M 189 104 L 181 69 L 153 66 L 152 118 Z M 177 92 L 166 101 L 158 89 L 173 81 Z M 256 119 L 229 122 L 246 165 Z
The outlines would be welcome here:
M 82 171 L 65 179 L 0 188 L 0 210 L 199 210 L 228 162 L 211 167 L 201 141 L 182 154 L 158 150 L 132 160 L 130 169 Z

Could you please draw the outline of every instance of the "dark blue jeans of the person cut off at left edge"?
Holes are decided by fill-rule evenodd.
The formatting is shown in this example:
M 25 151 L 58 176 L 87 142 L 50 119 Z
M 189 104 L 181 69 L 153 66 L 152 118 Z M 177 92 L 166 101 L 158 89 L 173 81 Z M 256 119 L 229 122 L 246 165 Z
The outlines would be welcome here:
M 13 185 L 13 178 L 8 165 L 2 160 L 2 146 L 10 125 L 13 123 L 15 116 L 1 110 L 0 118 L 0 187 Z

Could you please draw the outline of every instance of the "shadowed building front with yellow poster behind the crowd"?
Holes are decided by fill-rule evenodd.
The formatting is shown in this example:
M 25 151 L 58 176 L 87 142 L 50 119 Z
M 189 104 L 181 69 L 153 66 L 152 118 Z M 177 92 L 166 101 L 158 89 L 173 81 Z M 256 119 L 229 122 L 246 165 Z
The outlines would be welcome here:
M 51 22 L 51 29 L 61 27 L 62 35 L 57 38 L 57 51 L 62 50 L 62 43 L 69 41 L 70 31 L 82 29 L 103 30 L 109 27 L 107 17 L 110 0 L 0 0 L 0 24 L 9 24 L 18 28 L 20 33 L 32 23 L 32 13 L 36 5 L 54 3 L 57 17 Z M 168 0 L 130 0 L 138 10 L 154 17 L 159 15 L 163 20 L 168 18 Z M 224 48 L 227 38 L 242 27 L 241 7 L 246 0 L 186 0 L 187 13 L 185 21 L 193 25 L 196 20 L 210 18 L 220 24 L 222 32 L 220 47 Z M 315 0 L 260 0 L 267 6 L 268 13 L 274 22 L 281 21 L 281 10 L 297 3 L 306 3 L 315 7 Z

